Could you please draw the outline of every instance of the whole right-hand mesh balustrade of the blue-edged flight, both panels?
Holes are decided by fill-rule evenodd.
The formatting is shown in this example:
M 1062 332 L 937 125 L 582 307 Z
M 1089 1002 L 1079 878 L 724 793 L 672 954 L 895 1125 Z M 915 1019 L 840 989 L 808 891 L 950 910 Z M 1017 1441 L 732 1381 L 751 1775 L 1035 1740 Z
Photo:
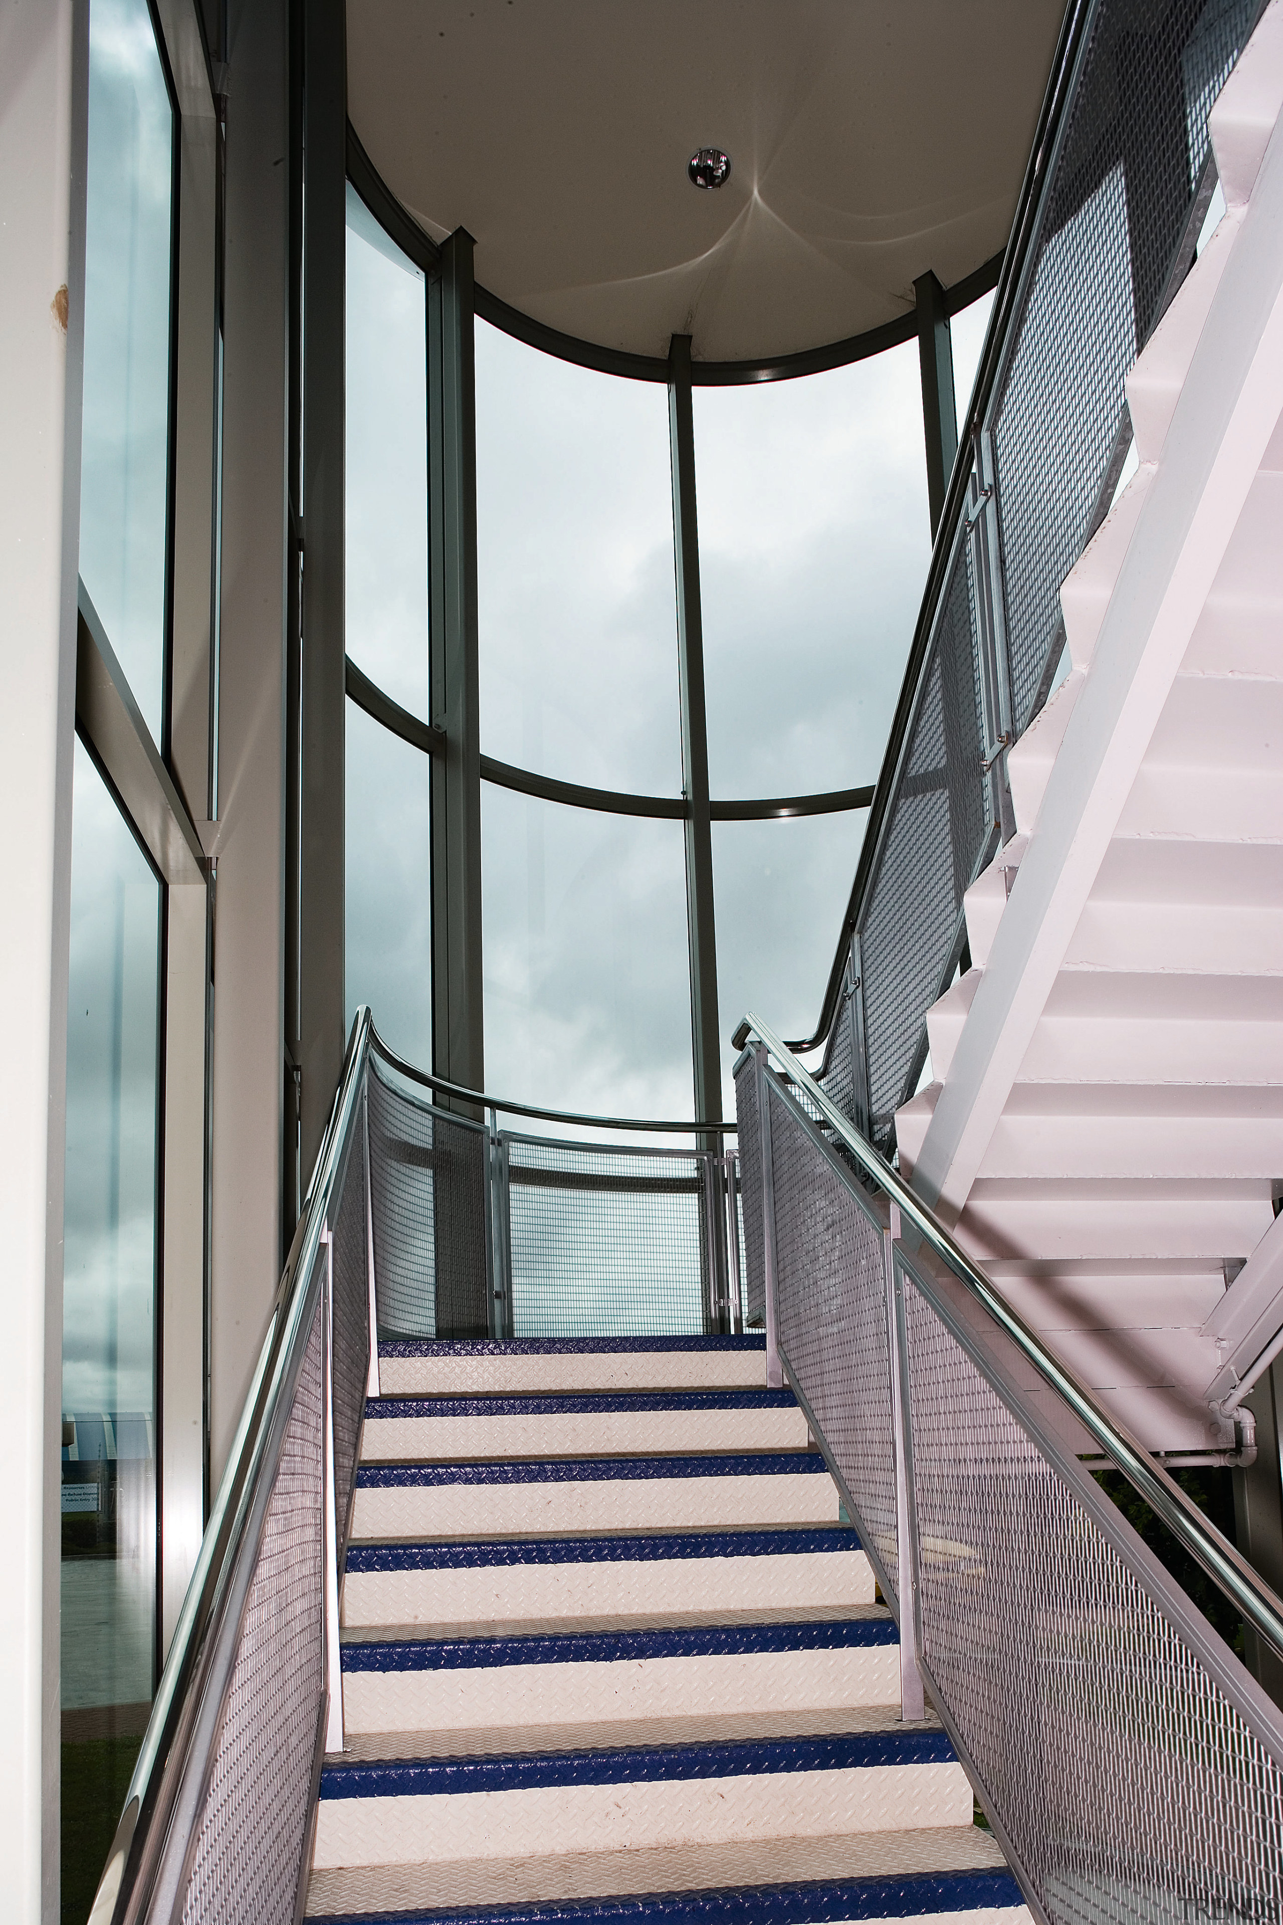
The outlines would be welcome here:
M 1048 1925 L 1277 1921 L 1283 1713 L 1081 1463 L 1106 1442 L 1091 1392 L 1039 1376 L 1039 1340 L 769 1047 L 781 1072 L 760 1041 L 735 1078 L 750 1301 L 1027 1896 Z M 1223 1550 L 1283 1644 L 1283 1604 Z

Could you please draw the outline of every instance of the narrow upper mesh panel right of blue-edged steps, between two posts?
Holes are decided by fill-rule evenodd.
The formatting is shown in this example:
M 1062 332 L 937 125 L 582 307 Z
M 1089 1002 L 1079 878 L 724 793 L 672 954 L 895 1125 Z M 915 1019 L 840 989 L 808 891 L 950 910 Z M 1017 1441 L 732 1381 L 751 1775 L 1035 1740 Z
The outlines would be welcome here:
M 898 1596 L 883 1232 L 767 1082 L 779 1348 Z

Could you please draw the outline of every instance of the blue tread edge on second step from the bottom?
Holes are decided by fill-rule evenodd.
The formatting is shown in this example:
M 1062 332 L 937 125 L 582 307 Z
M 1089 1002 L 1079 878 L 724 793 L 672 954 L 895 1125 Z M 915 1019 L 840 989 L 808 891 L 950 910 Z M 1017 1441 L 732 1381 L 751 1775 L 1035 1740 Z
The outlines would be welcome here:
M 908 1727 L 833 1738 L 769 1738 L 739 1744 L 658 1744 L 516 1758 L 427 1758 L 327 1765 L 321 1798 L 433 1798 L 460 1792 L 554 1790 L 569 1784 L 775 1777 L 792 1771 L 877 1771 L 889 1765 L 952 1765 L 943 1731 Z

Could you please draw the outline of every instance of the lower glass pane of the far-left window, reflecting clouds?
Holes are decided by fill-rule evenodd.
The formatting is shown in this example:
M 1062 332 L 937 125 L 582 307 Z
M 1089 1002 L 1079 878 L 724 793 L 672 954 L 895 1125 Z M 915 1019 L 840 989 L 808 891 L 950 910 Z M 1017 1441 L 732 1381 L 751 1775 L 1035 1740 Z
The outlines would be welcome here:
M 62 1346 L 63 1919 L 83 1925 L 156 1652 L 162 886 L 75 745 Z

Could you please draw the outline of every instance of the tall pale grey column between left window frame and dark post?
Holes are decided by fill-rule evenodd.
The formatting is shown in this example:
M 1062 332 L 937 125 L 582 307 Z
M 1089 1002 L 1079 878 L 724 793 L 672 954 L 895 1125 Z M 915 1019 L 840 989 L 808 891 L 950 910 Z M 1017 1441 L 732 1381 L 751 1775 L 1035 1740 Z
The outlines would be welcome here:
M 281 1278 L 289 65 L 281 0 L 227 19 L 223 579 L 214 914 L 210 1480 Z

